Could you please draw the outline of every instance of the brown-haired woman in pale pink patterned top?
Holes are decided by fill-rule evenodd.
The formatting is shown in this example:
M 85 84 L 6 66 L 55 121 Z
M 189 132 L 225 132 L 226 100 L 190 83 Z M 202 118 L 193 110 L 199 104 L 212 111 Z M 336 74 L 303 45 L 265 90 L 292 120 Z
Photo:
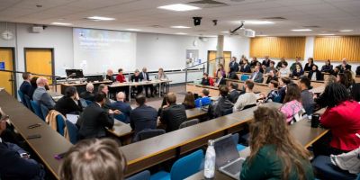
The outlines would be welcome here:
M 302 93 L 296 84 L 286 85 L 286 95 L 284 104 L 280 108 L 286 117 L 287 123 L 292 123 L 296 119 L 296 115 L 302 112 L 303 107 L 300 101 L 302 100 Z

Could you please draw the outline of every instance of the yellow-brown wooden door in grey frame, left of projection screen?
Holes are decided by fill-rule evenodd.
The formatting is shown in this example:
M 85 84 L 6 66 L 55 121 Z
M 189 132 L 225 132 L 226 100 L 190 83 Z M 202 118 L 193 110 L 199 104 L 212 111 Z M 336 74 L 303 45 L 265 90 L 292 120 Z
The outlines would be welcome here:
M 49 85 L 52 84 L 54 59 L 53 49 L 24 49 L 25 69 L 31 74 L 47 75 Z M 36 76 L 36 75 L 35 75 Z

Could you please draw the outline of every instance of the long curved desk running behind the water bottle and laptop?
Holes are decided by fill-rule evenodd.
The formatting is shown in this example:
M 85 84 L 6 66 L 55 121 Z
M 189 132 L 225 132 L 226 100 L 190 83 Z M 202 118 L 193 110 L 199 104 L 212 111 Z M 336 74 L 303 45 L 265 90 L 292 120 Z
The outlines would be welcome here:
M 279 108 L 280 105 L 280 103 L 264 104 L 264 106 L 275 108 Z M 256 109 L 257 107 L 249 108 L 121 147 L 128 160 L 126 175 L 137 173 L 168 159 L 179 157 L 195 148 L 200 148 L 206 145 L 209 139 L 216 139 L 225 134 L 242 130 L 243 123 L 254 117 L 253 111 Z

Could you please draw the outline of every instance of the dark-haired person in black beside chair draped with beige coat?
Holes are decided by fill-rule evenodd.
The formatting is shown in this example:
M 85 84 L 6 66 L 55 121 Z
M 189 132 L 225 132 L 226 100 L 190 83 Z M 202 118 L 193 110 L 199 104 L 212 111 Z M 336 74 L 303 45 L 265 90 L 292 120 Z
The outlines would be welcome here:
M 65 95 L 58 99 L 54 109 L 64 116 L 67 113 L 79 114 L 83 112 L 83 106 L 80 103 L 80 97 L 77 94 L 75 86 L 68 86 L 65 89 Z

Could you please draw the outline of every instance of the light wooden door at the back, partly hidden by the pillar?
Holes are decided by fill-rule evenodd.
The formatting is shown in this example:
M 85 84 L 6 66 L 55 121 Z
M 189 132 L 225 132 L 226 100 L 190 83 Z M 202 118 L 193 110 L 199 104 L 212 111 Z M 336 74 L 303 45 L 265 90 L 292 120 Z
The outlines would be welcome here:
M 215 76 L 216 73 L 216 69 L 218 68 L 217 63 L 220 62 L 220 59 L 216 59 L 216 50 L 209 50 L 208 51 L 208 66 L 209 66 L 209 76 Z M 225 67 L 225 71 L 228 72 L 229 71 L 229 62 L 230 62 L 230 58 L 231 58 L 231 51 L 224 51 L 223 52 L 223 58 L 224 58 L 224 67 Z

